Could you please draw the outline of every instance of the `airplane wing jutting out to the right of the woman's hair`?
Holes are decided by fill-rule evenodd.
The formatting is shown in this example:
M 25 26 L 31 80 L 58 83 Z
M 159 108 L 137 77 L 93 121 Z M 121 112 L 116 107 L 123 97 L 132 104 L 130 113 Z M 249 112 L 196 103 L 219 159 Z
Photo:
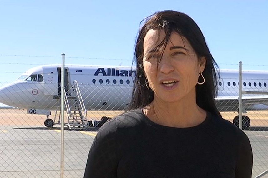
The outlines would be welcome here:
M 215 98 L 219 111 L 238 111 L 239 98 L 237 96 L 219 96 Z M 268 95 L 242 95 L 242 104 L 245 108 L 252 105 L 268 105 Z

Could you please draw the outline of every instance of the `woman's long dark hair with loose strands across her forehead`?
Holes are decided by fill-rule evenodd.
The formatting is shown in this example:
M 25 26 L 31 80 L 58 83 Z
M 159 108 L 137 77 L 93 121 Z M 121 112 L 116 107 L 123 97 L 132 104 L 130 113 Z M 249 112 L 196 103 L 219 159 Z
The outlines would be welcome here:
M 136 64 L 136 77 L 132 91 L 132 99 L 127 111 L 142 108 L 151 103 L 154 99 L 154 91 L 150 88 L 148 89 L 145 85 L 146 78 L 143 68 L 143 42 L 146 33 L 150 29 L 157 29 L 164 30 L 166 34 L 166 37 L 160 42 L 160 45 L 164 45 L 165 47 L 170 34 L 172 32 L 177 32 L 190 42 L 190 45 L 193 47 L 199 60 L 201 57 L 205 57 L 206 66 L 202 73 L 205 77 L 205 83 L 203 85 L 197 84 L 195 87 L 196 103 L 202 109 L 221 116 L 216 108 L 214 100 L 215 96 L 218 94 L 217 74 L 220 75 L 220 72 L 217 70 L 218 65 L 210 53 L 205 42 L 205 37 L 194 20 L 185 13 L 166 10 L 156 12 L 143 21 L 145 21 L 145 23 L 139 30 L 135 43 L 132 65 L 134 63 Z M 159 45 L 157 47 L 159 47 Z

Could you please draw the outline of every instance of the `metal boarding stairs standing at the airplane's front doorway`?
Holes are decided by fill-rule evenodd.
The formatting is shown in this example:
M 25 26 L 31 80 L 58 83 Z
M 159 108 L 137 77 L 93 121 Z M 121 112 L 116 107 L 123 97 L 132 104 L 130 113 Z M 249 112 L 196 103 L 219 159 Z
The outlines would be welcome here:
M 74 128 L 76 126 L 78 126 L 78 128 L 85 128 L 87 121 L 87 110 L 84 105 L 84 101 L 77 81 L 73 81 L 72 89 L 73 91 L 70 96 L 67 96 L 66 91 L 64 90 L 64 109 L 67 112 L 68 119 L 68 122 L 64 123 L 64 125 L 67 126 L 68 129 Z

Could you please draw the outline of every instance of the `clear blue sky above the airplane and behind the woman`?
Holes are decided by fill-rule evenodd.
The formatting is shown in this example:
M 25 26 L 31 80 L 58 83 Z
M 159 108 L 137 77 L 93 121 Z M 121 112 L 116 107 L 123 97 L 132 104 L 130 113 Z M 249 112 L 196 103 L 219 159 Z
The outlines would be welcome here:
M 140 21 L 166 9 L 195 20 L 220 68 L 268 70 L 267 0 L 13 0 L 0 6 L 0 86 L 61 53 L 66 64 L 131 65 Z

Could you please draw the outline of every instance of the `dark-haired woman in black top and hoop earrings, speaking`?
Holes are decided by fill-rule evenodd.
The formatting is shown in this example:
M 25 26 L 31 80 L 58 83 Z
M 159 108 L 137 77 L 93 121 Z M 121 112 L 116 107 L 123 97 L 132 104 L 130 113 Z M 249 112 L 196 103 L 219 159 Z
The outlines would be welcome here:
M 215 106 L 217 66 L 197 24 L 156 12 L 139 31 L 128 111 L 105 123 L 84 177 L 250 178 L 245 133 Z

